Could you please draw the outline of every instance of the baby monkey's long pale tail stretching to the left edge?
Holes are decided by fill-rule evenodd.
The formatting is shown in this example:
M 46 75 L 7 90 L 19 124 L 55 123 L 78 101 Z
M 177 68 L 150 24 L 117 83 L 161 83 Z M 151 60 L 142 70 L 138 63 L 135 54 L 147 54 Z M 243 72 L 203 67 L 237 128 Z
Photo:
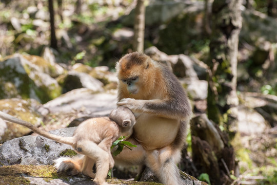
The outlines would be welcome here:
M 32 131 L 34 131 L 35 133 L 44 136 L 48 139 L 52 139 L 61 143 L 65 143 L 65 144 L 70 144 L 73 145 L 74 144 L 74 139 L 73 137 L 63 137 L 63 136 L 57 136 L 54 134 L 50 134 L 46 131 L 40 130 L 39 128 L 35 127 L 34 125 L 32 125 L 31 123 L 28 123 L 27 121 L 21 120 L 21 119 L 17 119 L 9 114 L 6 114 L 2 111 L 0 111 L 0 118 L 10 121 L 12 123 L 16 123 L 16 124 L 20 124 L 23 126 L 26 126 L 28 128 L 30 128 Z

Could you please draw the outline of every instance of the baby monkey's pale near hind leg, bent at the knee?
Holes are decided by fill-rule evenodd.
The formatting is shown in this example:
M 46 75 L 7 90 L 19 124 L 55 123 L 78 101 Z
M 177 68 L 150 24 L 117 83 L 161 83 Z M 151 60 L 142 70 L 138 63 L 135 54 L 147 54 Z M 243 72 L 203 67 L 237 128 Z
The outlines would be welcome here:
M 109 172 L 109 154 L 96 143 L 89 140 L 77 143 L 77 147 L 82 150 L 82 154 L 91 158 L 96 163 L 96 174 L 93 182 L 100 185 L 107 184 L 106 178 Z

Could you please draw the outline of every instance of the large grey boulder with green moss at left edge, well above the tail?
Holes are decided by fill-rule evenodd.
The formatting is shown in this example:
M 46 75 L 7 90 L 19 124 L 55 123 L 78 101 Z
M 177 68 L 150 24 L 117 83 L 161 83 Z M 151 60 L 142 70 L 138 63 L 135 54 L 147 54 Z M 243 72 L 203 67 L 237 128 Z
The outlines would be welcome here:
M 50 70 L 46 61 L 38 59 L 42 58 L 14 54 L 0 62 L 0 99 L 32 98 L 45 103 L 61 95 L 60 85 L 46 73 Z

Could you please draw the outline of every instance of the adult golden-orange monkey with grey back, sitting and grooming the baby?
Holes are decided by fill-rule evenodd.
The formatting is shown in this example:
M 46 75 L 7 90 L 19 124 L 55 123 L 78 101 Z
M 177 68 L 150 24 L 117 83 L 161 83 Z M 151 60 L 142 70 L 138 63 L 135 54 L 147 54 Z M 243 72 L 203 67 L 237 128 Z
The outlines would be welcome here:
M 127 141 L 132 151 L 123 150 L 115 164 L 146 165 L 166 185 L 182 184 L 176 163 L 186 140 L 192 116 L 187 95 L 166 64 L 143 53 L 124 55 L 116 64 L 118 106 L 126 106 L 136 116 L 133 134 Z M 82 158 L 67 161 L 68 167 Z

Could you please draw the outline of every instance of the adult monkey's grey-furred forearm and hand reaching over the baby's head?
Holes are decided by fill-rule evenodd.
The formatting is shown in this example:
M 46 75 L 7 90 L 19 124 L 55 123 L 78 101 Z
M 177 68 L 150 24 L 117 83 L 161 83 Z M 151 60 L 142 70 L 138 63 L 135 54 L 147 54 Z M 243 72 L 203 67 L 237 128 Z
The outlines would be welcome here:
M 191 117 L 190 105 L 187 101 L 174 100 L 136 100 L 124 98 L 117 102 L 118 106 L 126 106 L 133 112 L 149 113 L 169 119 L 188 119 Z

